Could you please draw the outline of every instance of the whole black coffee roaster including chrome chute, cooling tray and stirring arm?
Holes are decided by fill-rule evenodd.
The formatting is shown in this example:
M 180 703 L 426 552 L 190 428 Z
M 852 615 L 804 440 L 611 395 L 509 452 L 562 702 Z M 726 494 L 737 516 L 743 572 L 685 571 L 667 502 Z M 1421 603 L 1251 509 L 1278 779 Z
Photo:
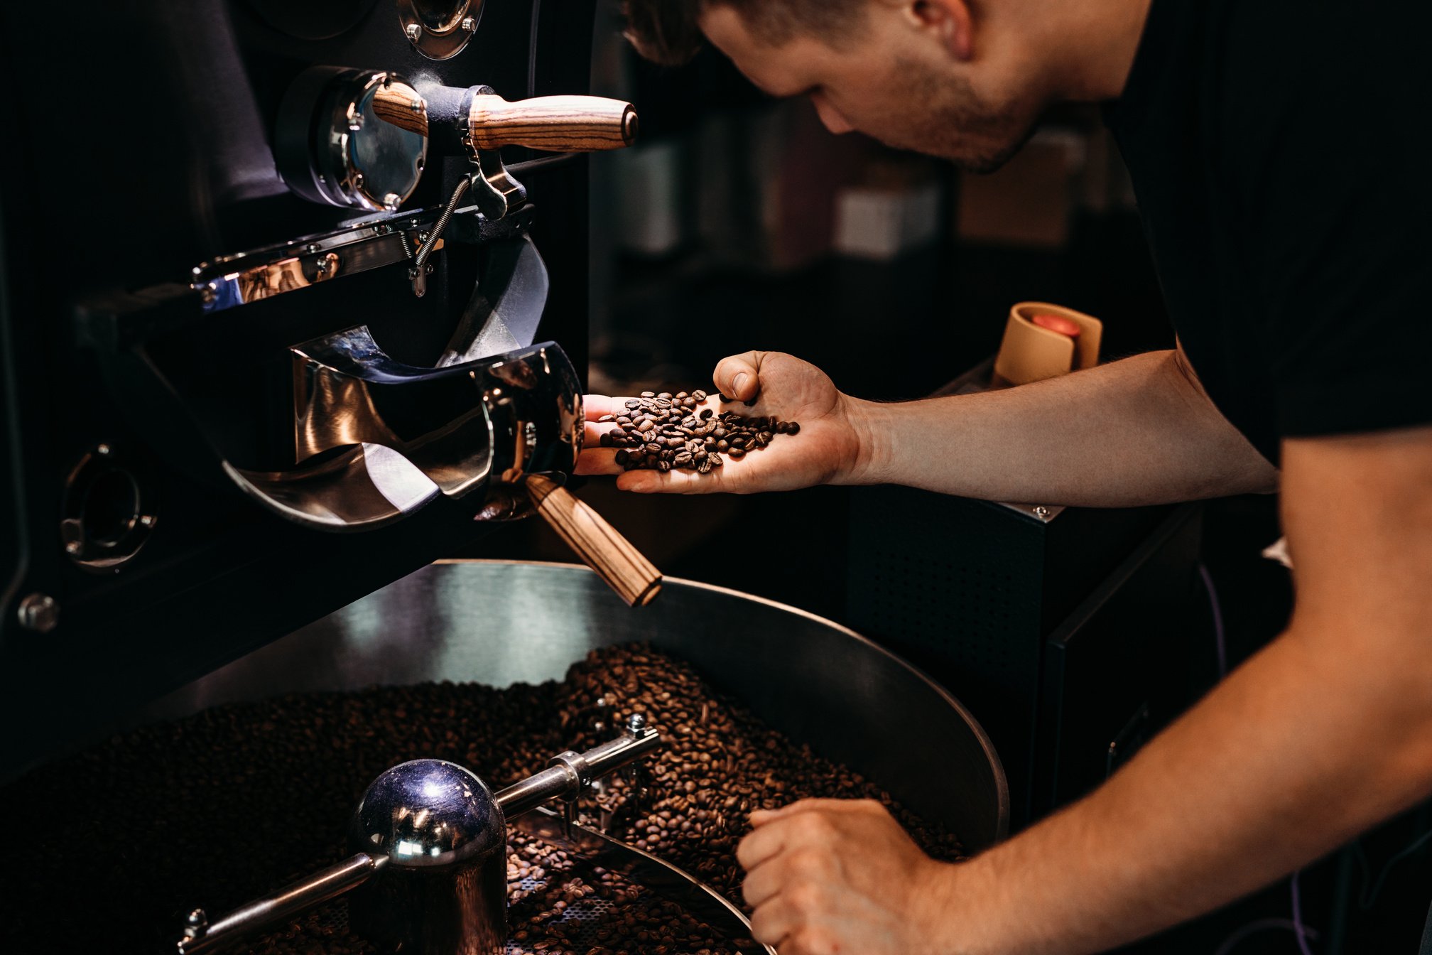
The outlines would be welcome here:
M 20 13 L 0 11 L 6 62 L 46 89 L 16 103 L 23 135 L 0 150 L 6 780 L 212 703 L 505 686 L 649 640 L 967 848 L 1005 833 L 998 757 L 948 693 L 828 621 L 663 590 L 563 488 L 583 437 L 581 156 L 637 135 L 630 105 L 589 96 L 590 4 L 84 3 L 54 37 L 60 69 Z M 536 514 L 590 570 L 428 566 Z M 939 765 L 915 772 L 932 743 Z M 500 913 L 470 916 L 495 912 L 493 892 L 464 892 L 504 818 L 571 840 L 541 806 L 657 745 L 633 719 L 501 792 L 395 766 L 355 819 L 398 819 L 417 792 L 411 818 L 453 823 L 431 846 L 453 868 L 408 875 L 467 934 L 415 941 L 444 921 L 404 916 L 369 938 L 500 946 Z M 411 892 L 400 856 L 425 836 L 369 822 L 292 891 L 195 911 L 179 949 L 359 885 Z

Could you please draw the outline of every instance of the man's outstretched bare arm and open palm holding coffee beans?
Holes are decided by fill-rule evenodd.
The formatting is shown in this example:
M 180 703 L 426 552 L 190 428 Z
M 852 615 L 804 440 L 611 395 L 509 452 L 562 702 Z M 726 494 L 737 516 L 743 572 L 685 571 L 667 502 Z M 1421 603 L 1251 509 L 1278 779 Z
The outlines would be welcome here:
M 979 395 L 876 404 L 841 394 L 813 365 L 746 352 L 716 368 L 746 415 L 798 421 L 707 475 L 624 474 L 642 493 L 756 493 L 812 484 L 906 484 L 997 501 L 1128 507 L 1270 491 L 1277 471 L 1219 414 L 1177 352 L 1150 352 Z M 597 418 L 621 399 L 589 397 L 580 470 L 613 474 Z

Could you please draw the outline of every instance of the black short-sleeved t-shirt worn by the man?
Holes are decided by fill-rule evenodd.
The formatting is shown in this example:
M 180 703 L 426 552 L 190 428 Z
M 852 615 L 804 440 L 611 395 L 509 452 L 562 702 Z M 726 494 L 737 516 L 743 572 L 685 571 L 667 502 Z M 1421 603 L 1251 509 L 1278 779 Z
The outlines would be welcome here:
M 1432 17 L 1153 0 L 1106 120 L 1179 338 L 1270 461 L 1432 422 Z

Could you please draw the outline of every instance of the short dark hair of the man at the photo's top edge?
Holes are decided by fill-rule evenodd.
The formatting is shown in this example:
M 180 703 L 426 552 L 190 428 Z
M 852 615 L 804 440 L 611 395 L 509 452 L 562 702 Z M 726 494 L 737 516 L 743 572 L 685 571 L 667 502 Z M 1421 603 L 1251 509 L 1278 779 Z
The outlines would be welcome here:
M 656 63 L 679 66 L 700 52 L 697 21 L 707 7 L 730 7 L 758 39 L 780 46 L 798 33 L 843 39 L 869 0 L 624 0 L 627 39 Z

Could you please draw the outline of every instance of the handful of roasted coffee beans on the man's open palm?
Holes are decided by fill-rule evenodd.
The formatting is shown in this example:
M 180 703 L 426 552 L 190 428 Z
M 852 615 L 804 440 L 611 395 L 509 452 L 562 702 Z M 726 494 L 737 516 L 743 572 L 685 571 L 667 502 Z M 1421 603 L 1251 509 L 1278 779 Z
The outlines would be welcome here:
M 599 418 L 617 428 L 601 435 L 603 448 L 617 448 L 617 464 L 627 471 L 697 471 L 710 474 L 729 457 L 739 461 L 760 451 L 778 434 L 799 434 L 795 421 L 743 418 L 735 411 L 702 408 L 705 391 L 643 391 L 629 398 L 626 412 Z M 735 399 L 720 395 L 723 404 Z M 723 457 L 725 455 L 725 457 Z

